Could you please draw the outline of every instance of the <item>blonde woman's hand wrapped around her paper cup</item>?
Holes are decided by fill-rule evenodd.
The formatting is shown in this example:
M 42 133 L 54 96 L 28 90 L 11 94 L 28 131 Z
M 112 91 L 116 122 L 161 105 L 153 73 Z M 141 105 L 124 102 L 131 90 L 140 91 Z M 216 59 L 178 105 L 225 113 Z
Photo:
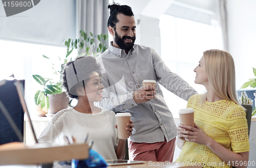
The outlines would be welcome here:
M 186 141 L 196 142 L 200 145 L 208 146 L 210 142 L 213 140 L 195 123 L 194 127 L 182 124 L 179 124 L 178 126 L 178 137 L 184 137 Z M 191 131 L 186 131 L 184 129 L 189 129 Z

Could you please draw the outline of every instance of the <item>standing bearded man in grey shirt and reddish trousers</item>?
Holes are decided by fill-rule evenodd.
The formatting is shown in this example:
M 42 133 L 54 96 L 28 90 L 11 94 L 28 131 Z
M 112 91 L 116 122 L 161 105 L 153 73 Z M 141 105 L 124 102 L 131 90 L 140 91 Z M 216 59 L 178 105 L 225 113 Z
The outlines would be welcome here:
M 108 8 L 114 40 L 97 58 L 105 87 L 97 106 L 132 114 L 130 160 L 173 161 L 177 128 L 159 84 L 186 101 L 197 92 L 172 73 L 151 47 L 134 44 L 136 24 L 131 7 L 113 3 Z M 142 88 L 143 80 L 155 80 L 157 85 Z

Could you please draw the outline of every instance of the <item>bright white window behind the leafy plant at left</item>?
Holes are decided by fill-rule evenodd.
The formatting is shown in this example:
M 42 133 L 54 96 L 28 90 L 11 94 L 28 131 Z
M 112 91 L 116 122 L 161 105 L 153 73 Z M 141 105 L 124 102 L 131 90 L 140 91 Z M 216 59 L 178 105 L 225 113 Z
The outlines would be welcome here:
M 38 84 L 32 75 L 54 79 L 56 82 L 59 80 L 59 76 L 54 75 L 51 62 L 42 55 L 51 58 L 60 68 L 60 65 L 57 65 L 60 63 L 58 59 L 65 58 L 67 48 L 4 40 L 0 40 L 0 46 L 0 80 L 7 79 L 12 74 L 16 79 L 25 79 L 25 99 L 29 111 L 33 111 L 35 92 L 43 89 L 43 86 Z M 70 57 L 75 56 L 76 51 L 73 51 Z

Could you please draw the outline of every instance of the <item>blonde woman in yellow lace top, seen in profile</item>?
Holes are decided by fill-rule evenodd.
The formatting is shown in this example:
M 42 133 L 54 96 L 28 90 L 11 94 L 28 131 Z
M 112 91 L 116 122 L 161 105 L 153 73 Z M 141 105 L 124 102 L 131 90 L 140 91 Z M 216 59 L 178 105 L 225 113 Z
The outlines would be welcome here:
M 195 126 L 178 125 L 177 146 L 182 150 L 176 162 L 202 167 L 246 167 L 248 127 L 236 97 L 232 56 L 221 50 L 205 51 L 194 71 L 195 83 L 204 85 L 207 92 L 188 100 L 187 108 L 195 110 Z

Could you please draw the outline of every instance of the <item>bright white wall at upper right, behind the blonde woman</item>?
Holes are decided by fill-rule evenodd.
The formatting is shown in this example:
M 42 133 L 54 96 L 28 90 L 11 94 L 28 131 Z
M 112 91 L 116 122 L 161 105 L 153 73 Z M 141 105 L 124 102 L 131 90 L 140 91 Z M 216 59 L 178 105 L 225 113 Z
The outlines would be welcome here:
M 239 89 L 256 68 L 256 1 L 227 0 L 229 52 L 236 66 L 236 87 Z

